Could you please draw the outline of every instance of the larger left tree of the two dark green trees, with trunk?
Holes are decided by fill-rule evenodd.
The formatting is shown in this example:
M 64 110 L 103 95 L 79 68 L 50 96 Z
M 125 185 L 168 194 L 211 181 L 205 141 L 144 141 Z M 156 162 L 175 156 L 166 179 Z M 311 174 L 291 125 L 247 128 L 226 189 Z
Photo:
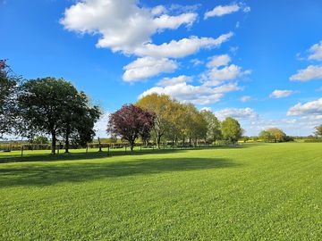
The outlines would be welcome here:
M 65 110 L 77 90 L 64 79 L 30 79 L 21 85 L 18 107 L 25 127 L 21 133 L 32 136 L 41 132 L 51 135 L 52 154 L 55 154 L 57 135 L 62 133 Z

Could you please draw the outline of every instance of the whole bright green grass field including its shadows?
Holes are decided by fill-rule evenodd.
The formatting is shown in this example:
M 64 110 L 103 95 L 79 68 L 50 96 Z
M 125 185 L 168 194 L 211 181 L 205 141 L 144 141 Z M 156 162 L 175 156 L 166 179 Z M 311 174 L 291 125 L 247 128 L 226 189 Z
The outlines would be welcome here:
M 26 155 L 0 154 L 0 240 L 322 240 L 322 144 Z

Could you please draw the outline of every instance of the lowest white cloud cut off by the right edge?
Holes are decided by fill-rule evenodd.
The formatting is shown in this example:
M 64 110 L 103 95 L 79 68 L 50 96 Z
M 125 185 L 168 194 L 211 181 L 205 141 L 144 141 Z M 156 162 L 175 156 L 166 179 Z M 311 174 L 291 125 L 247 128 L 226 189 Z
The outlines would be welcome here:
M 302 116 L 306 118 L 316 118 L 322 116 L 322 98 L 306 104 L 295 104 L 287 112 L 288 116 Z

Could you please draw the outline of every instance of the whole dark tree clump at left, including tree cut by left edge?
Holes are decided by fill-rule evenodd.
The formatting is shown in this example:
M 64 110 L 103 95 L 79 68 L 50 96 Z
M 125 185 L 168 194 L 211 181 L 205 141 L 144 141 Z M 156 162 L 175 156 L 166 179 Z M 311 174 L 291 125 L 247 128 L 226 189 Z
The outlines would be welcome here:
M 86 145 L 95 136 L 94 124 L 101 115 L 97 105 L 64 79 L 22 79 L 6 61 L 0 61 L 0 137 L 50 135 L 52 154 L 57 138 Z

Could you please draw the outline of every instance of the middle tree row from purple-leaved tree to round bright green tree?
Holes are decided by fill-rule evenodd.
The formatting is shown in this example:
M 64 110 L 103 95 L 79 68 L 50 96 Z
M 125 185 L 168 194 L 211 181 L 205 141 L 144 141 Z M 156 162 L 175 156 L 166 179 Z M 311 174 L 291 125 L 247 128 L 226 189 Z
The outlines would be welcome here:
M 199 111 L 194 104 L 182 104 L 170 96 L 151 94 L 136 104 L 124 104 L 110 115 L 107 131 L 113 137 L 129 142 L 152 141 L 160 148 L 162 143 L 198 145 L 225 140 L 236 143 L 242 137 L 242 127 L 231 117 L 219 121 L 213 112 Z

